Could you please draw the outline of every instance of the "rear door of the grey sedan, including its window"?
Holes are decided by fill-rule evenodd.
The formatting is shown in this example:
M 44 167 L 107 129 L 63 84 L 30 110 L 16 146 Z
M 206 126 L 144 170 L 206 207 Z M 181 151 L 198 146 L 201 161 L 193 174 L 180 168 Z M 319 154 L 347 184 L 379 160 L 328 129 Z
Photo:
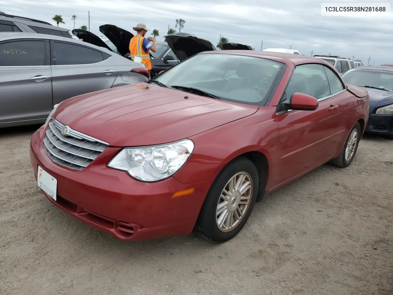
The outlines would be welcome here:
M 110 57 L 83 44 L 51 40 L 53 103 L 110 88 L 117 76 Z

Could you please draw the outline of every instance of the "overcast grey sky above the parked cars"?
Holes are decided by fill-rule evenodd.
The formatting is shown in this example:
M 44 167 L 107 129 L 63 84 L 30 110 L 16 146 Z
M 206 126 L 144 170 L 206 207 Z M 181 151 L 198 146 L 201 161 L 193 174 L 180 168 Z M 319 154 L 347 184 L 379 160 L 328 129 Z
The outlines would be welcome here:
M 390 0 L 391 1 L 391 0 Z M 374 1 L 386 2 L 390 1 Z M 341 55 L 361 59 L 367 65 L 393 63 L 393 15 L 321 16 L 317 0 L 0 0 L 0 11 L 45 20 L 59 14 L 73 29 L 88 26 L 101 36 L 99 26 L 114 24 L 132 32 L 132 26 L 144 22 L 160 32 L 158 41 L 176 18 L 184 19 L 184 30 L 217 44 L 220 35 L 230 42 L 266 48 L 297 49 L 301 54 Z M 323 1 L 327 2 L 327 1 Z M 335 1 L 336 3 L 369 1 Z M 392 5 L 393 6 L 393 5 Z

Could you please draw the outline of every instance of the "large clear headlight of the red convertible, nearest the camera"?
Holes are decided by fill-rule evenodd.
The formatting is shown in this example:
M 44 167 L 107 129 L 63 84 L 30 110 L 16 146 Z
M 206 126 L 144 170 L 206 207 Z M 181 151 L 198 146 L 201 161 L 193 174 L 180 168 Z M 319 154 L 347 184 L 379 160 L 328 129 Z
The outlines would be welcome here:
M 193 149 L 194 142 L 189 139 L 158 146 L 126 147 L 108 166 L 127 171 L 141 181 L 154 182 L 170 177 L 178 171 Z

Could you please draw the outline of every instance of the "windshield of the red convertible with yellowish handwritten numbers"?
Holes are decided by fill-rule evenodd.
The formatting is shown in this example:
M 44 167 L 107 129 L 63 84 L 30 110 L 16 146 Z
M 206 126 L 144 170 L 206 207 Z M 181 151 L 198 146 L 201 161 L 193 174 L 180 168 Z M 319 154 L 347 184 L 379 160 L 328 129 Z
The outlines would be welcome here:
M 168 87 L 193 87 L 222 100 L 264 105 L 285 64 L 244 55 L 194 55 L 163 72 L 156 80 Z

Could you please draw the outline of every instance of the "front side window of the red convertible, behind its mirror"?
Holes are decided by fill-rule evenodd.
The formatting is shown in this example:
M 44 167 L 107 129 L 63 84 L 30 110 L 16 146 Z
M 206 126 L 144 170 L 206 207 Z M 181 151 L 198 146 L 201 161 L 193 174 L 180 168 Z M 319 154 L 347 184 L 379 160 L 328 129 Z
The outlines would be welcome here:
M 320 64 L 296 66 L 285 90 L 286 98 L 290 99 L 296 92 L 308 94 L 317 99 L 329 96 L 329 83 L 323 66 Z

